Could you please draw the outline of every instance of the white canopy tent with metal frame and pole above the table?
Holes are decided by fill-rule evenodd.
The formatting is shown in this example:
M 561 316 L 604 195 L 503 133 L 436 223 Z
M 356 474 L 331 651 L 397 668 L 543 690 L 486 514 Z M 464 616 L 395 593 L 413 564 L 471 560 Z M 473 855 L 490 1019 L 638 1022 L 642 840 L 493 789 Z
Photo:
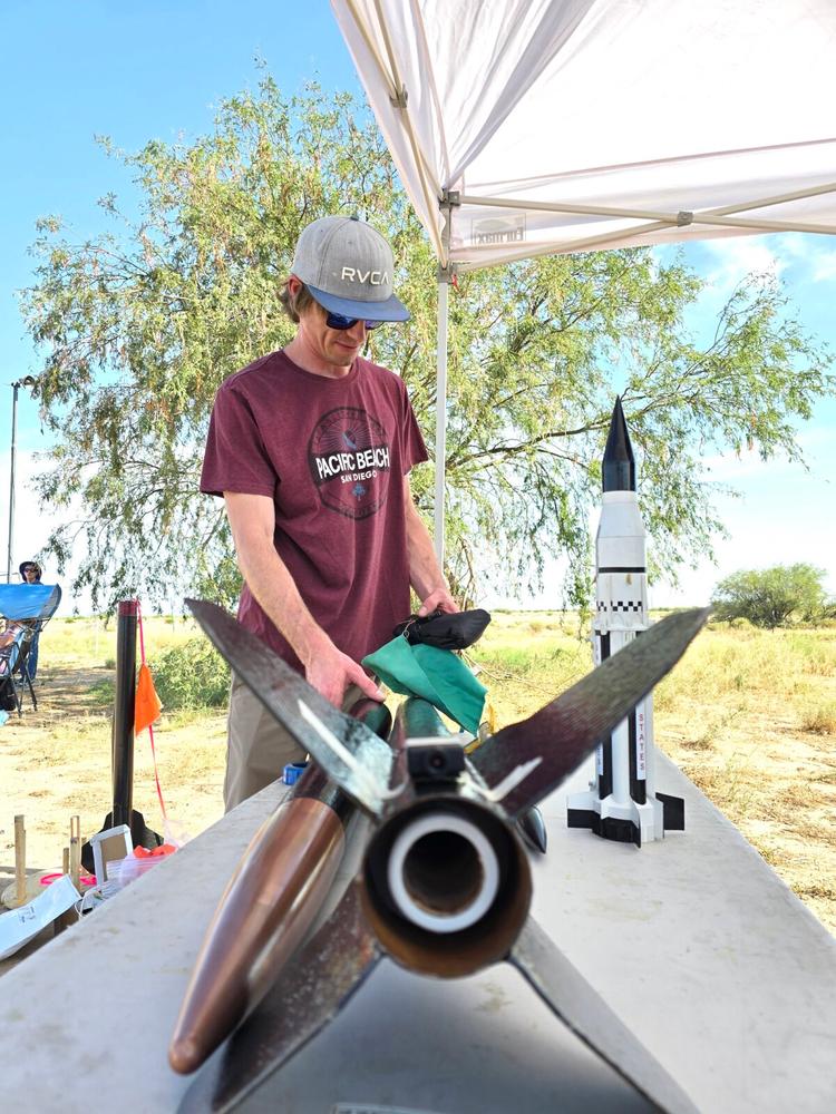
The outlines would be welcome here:
M 836 233 L 834 0 L 332 0 L 447 292 L 535 255 Z

